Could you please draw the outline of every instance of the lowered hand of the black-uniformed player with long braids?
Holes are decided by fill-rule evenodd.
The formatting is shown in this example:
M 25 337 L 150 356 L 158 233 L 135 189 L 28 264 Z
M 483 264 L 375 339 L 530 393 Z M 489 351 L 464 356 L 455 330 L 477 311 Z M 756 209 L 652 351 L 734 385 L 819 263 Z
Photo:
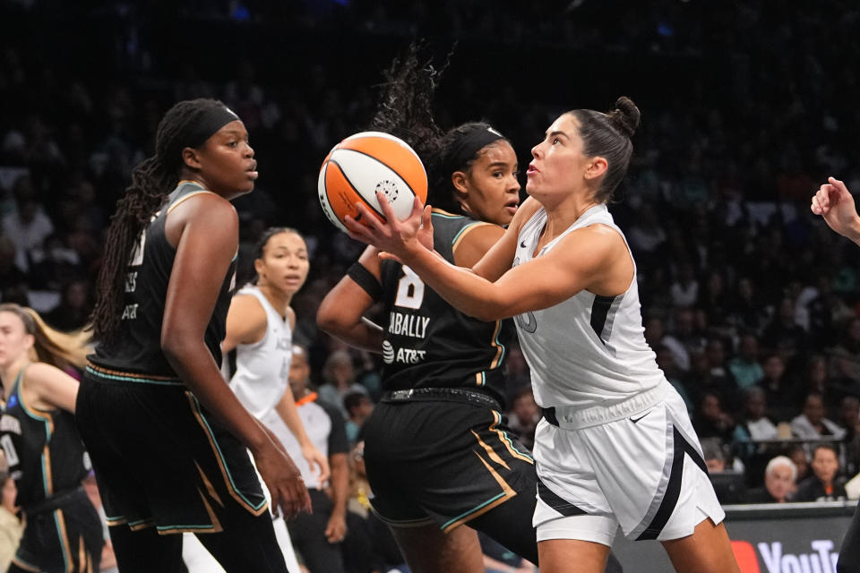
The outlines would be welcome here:
M 283 449 L 271 440 L 254 451 L 254 461 L 262 481 L 269 488 L 271 511 L 285 519 L 296 517 L 299 511 L 311 513 L 311 498 L 296 464 Z

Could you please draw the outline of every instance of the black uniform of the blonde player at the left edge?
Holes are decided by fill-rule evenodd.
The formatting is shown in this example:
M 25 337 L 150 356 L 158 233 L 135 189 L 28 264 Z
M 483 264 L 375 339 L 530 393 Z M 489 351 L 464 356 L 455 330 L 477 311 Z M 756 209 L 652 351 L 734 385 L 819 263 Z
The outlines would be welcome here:
M 22 399 L 26 367 L 0 416 L 0 444 L 18 488 L 25 528 L 11 571 L 98 571 L 104 545 L 99 514 L 83 491 L 89 472 L 74 416 Z

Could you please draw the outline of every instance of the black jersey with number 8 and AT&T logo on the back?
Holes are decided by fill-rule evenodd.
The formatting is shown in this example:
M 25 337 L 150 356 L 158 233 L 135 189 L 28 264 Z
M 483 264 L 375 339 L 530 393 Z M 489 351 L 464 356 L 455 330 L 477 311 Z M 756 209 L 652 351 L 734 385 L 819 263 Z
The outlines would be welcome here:
M 454 261 L 454 247 L 472 218 L 433 211 L 434 248 Z M 513 321 L 478 321 L 456 311 L 412 269 L 382 263 L 385 327 L 383 385 L 386 390 L 466 388 L 486 391 L 504 404 L 503 363 Z

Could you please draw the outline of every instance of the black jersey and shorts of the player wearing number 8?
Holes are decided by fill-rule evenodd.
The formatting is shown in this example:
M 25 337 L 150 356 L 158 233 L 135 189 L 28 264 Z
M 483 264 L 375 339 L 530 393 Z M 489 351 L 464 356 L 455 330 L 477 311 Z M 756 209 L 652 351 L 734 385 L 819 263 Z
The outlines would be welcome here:
M 434 248 L 453 262 L 479 225 L 434 210 Z M 503 420 L 512 321 L 457 312 L 394 261 L 381 275 L 385 393 L 364 427 L 374 510 L 394 526 L 468 523 L 537 562 L 534 462 Z

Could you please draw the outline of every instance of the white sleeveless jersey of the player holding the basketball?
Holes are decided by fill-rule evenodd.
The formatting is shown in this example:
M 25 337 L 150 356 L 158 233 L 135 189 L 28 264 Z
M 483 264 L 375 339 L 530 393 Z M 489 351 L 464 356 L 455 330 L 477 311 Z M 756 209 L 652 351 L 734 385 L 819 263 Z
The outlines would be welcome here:
M 624 237 L 606 206 L 598 205 L 582 213 L 537 256 L 554 249 L 572 231 L 598 223 Z M 541 208 L 520 231 L 514 266 L 534 258 L 545 225 L 546 211 Z M 665 393 L 666 379 L 645 342 L 635 263 L 623 295 L 598 296 L 582 290 L 555 306 L 520 314 L 516 323 L 538 405 L 569 406 L 564 409 L 590 414 L 588 419 L 579 416 L 568 422 L 581 426 L 630 415 Z

